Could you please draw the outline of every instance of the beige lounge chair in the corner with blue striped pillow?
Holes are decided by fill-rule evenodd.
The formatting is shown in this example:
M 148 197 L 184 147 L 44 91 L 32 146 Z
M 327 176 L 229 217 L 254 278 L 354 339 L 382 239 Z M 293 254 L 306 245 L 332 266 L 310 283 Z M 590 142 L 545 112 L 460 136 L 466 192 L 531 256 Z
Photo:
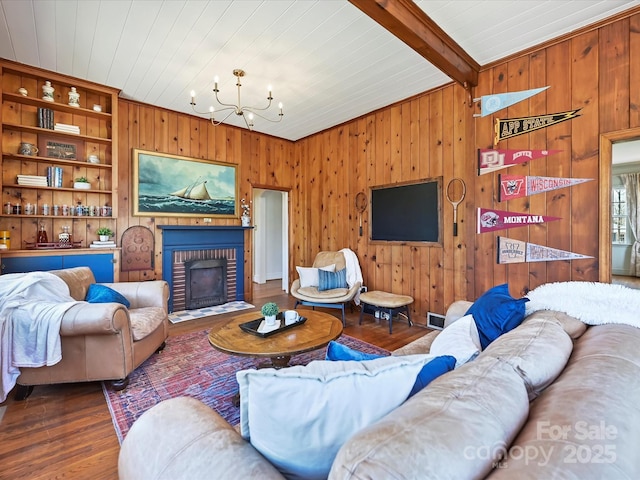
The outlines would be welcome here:
M 347 262 L 342 252 L 320 252 L 313 261 L 313 267 L 322 268 L 335 264 L 336 271 L 346 267 Z M 357 266 L 358 276 L 361 277 L 360 267 Z M 360 292 L 361 281 L 355 281 L 349 288 L 334 288 L 332 290 L 319 291 L 317 287 L 301 287 L 297 278 L 291 284 L 291 295 L 296 299 L 295 308 L 298 305 L 310 307 L 337 308 L 342 311 L 342 325 L 346 326 L 345 306 Z

